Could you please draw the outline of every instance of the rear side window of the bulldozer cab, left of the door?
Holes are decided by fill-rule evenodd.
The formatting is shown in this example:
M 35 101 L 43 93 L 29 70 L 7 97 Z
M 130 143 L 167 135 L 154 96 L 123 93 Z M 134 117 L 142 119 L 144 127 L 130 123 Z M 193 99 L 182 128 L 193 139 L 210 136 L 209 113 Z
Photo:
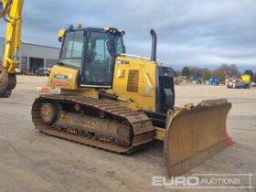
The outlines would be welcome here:
M 83 31 L 66 33 L 59 59 L 60 63 L 80 68 L 83 38 Z

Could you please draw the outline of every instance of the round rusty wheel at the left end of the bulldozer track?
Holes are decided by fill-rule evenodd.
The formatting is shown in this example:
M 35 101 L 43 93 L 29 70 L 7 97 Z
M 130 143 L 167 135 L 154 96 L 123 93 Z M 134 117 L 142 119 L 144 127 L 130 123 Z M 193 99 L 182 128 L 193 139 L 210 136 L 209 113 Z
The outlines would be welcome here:
M 42 103 L 40 109 L 40 116 L 44 123 L 52 124 L 56 121 L 58 117 L 58 110 L 55 104 L 51 102 Z

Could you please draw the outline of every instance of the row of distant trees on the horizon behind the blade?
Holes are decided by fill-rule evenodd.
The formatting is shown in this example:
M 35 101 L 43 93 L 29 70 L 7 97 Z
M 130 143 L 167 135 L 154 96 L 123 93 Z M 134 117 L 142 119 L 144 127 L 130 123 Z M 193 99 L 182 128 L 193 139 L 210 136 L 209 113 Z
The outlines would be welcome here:
M 240 73 L 235 64 L 222 64 L 218 69 L 210 70 L 208 68 L 197 67 L 184 67 L 181 70 L 176 70 L 176 76 L 193 76 L 200 77 L 203 80 L 208 80 L 210 77 L 219 77 L 219 80 L 224 81 L 226 76 L 240 76 L 241 74 L 251 75 L 251 80 L 256 82 L 256 73 L 253 73 L 251 69 L 246 69 L 243 73 Z

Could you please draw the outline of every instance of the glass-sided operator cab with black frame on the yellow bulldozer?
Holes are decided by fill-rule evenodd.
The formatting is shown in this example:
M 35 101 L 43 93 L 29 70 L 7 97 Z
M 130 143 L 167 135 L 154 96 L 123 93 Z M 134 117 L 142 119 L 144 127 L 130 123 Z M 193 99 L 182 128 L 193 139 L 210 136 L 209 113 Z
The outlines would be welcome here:
M 115 58 L 125 53 L 123 35 L 112 27 L 66 29 L 59 64 L 80 69 L 80 87 L 112 88 Z

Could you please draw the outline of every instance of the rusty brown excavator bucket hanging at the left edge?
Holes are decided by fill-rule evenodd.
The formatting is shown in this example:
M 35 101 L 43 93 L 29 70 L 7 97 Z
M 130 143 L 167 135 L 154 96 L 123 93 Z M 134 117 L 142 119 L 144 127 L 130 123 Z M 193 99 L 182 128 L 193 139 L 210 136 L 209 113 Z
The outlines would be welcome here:
M 2 68 L 0 74 L 0 97 L 9 97 L 15 87 L 16 73 L 8 73 L 6 69 Z

